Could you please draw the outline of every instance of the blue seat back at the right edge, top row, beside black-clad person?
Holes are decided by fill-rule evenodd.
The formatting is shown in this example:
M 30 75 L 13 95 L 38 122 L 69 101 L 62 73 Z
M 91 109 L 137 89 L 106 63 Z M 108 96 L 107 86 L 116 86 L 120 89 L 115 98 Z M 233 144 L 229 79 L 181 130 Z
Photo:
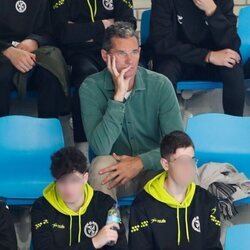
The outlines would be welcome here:
M 238 34 L 241 39 L 243 63 L 250 57 L 250 6 L 241 8 L 238 18 Z

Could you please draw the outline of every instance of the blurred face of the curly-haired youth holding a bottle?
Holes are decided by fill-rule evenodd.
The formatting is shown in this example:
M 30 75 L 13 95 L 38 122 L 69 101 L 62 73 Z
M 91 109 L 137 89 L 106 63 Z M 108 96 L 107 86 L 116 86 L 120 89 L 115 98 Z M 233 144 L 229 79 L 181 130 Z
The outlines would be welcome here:
M 56 180 L 56 189 L 65 203 L 76 203 L 83 195 L 88 173 L 73 172 Z

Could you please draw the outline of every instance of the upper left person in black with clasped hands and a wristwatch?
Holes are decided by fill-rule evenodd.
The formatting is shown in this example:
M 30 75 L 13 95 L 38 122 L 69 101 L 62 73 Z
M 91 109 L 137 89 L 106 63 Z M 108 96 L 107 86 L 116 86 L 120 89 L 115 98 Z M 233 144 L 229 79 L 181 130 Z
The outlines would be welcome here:
M 47 0 L 1 0 L 0 8 L 0 116 L 9 114 L 10 92 L 17 71 L 27 73 L 38 88 L 38 116 L 57 117 L 63 91 L 57 78 L 36 65 L 34 51 L 52 45 Z

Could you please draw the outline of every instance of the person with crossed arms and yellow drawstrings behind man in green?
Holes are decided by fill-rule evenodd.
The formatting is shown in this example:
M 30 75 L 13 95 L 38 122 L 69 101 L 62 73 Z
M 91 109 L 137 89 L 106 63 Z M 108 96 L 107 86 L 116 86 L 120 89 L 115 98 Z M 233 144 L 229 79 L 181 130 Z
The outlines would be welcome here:
M 105 29 L 114 21 L 127 21 L 136 28 L 132 0 L 51 0 L 54 33 L 66 61 L 72 66 L 71 84 L 74 141 L 86 142 L 81 119 L 79 87 L 83 80 L 103 70 L 101 57 Z

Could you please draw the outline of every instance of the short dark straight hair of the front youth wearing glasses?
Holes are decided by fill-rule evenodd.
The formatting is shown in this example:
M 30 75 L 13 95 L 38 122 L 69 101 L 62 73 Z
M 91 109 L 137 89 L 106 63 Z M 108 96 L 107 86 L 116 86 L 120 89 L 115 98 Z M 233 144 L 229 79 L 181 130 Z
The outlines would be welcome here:
M 164 136 L 161 141 L 161 157 L 168 158 L 170 155 L 175 154 L 177 149 L 188 147 L 192 147 L 194 149 L 194 144 L 191 138 L 182 131 L 173 131 Z

